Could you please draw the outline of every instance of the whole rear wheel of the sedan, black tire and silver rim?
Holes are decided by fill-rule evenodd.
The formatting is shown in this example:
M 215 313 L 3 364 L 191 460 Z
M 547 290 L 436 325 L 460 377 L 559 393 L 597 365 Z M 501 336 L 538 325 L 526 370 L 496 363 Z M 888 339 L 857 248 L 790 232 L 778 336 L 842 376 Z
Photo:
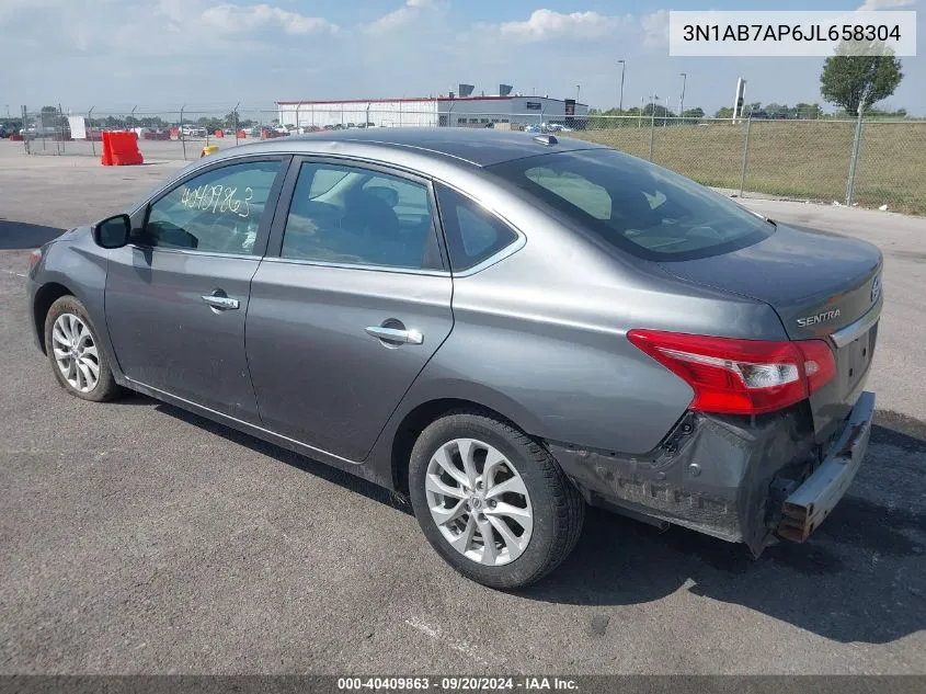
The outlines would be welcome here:
M 542 446 L 477 411 L 450 412 L 421 433 L 409 462 L 409 492 L 437 554 L 467 578 L 504 590 L 556 569 L 585 519 L 585 501 Z

